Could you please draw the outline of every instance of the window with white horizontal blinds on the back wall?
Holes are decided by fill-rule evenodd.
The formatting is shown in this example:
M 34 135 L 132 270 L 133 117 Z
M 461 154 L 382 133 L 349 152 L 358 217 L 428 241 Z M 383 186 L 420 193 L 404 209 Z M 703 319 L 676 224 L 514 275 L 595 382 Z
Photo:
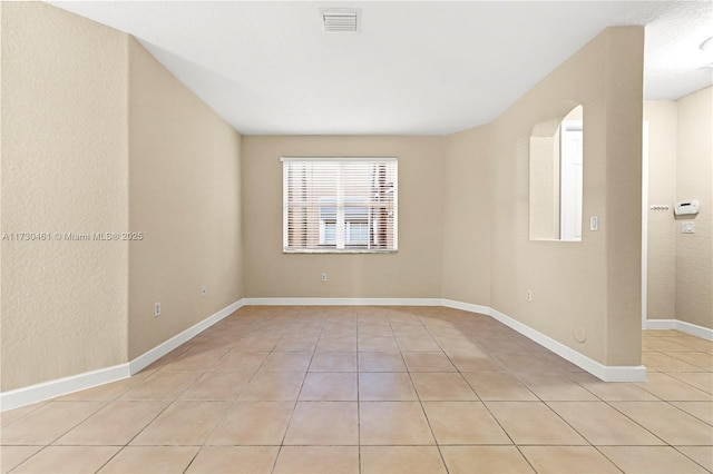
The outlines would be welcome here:
M 281 158 L 285 253 L 398 249 L 395 158 Z

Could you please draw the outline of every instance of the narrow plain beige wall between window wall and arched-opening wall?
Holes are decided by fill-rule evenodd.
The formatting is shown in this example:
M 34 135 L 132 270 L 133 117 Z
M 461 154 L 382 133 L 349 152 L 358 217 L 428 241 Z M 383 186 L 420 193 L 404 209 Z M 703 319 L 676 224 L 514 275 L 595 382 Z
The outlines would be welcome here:
M 443 154 L 443 298 L 490 305 L 489 126 L 453 134 Z

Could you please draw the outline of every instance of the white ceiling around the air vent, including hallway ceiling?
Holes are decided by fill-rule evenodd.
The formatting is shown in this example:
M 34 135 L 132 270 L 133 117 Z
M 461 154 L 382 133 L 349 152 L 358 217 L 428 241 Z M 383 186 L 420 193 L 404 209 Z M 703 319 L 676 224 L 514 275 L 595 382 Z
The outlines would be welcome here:
M 646 26 L 647 99 L 713 83 L 711 1 L 50 1 L 136 37 L 245 135 L 449 134 L 495 119 L 608 26 Z M 361 32 L 320 10 L 361 9 Z M 712 48 L 713 49 L 713 48 Z

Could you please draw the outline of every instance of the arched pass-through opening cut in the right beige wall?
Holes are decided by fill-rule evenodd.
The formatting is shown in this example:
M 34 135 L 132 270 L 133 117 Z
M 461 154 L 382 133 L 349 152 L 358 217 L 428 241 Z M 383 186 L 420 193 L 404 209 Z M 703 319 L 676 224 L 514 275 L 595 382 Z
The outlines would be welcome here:
M 561 108 L 530 134 L 531 240 L 582 240 L 583 107 L 567 102 Z

